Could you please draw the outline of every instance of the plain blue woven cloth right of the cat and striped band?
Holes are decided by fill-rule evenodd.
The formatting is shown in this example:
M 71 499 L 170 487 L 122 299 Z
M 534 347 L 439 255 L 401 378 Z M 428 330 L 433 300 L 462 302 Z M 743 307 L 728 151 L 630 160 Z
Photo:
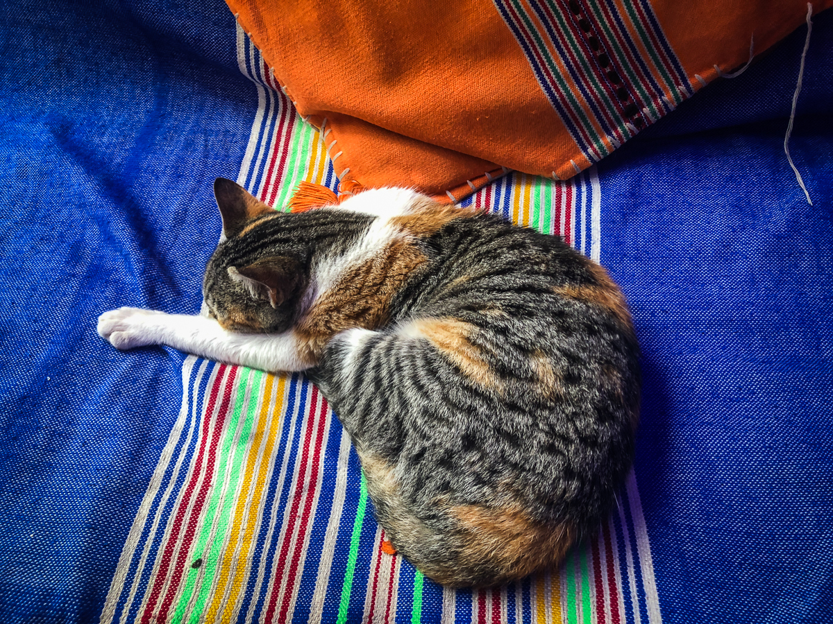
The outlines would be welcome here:
M 599 165 L 643 350 L 636 476 L 666 622 L 833 616 L 833 13 Z

